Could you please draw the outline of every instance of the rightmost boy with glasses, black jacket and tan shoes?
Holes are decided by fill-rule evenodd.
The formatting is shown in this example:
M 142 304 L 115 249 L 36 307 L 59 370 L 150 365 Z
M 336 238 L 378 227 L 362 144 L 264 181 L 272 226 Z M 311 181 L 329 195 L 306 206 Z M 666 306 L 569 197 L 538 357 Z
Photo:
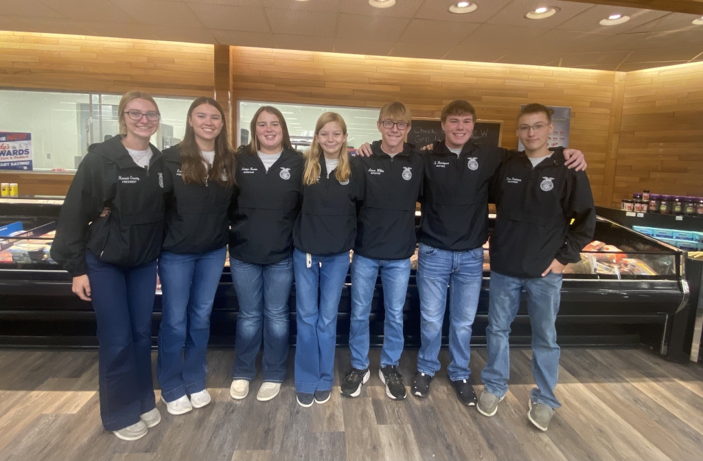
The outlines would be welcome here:
M 517 136 L 524 152 L 504 162 L 494 177 L 498 217 L 491 236 L 491 291 L 486 329 L 488 363 L 477 409 L 485 416 L 498 411 L 508 391 L 510 323 L 520 307 L 522 290 L 532 325 L 532 389 L 527 417 L 546 431 L 560 403 L 554 395 L 559 370 L 555 320 L 562 271 L 581 260 L 579 252 L 593 238 L 595 209 L 588 177 L 564 165 L 562 149 L 550 151 L 553 110 L 525 106 L 517 117 Z

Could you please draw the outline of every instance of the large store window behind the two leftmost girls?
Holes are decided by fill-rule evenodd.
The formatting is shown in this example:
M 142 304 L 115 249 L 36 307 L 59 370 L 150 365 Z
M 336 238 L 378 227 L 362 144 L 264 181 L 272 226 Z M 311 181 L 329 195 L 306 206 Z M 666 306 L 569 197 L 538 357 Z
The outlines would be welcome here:
M 8 134 L 8 140 L 30 135 L 25 136 L 30 141 L 30 162 L 0 157 L 0 169 L 75 171 L 89 145 L 119 132 L 120 98 L 122 95 L 0 89 L 0 133 Z M 193 98 L 154 99 L 161 124 L 151 142 L 165 149 L 183 138 Z M 3 149 L 16 144 L 0 143 Z

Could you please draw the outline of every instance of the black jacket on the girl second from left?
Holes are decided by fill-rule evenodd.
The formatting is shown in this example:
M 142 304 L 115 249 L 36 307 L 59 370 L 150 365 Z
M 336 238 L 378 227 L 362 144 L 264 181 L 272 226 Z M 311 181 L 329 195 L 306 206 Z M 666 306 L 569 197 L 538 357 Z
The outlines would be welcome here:
M 178 145 L 164 150 L 166 219 L 163 249 L 172 253 L 212 252 L 229 242 L 227 214 L 234 186 L 207 181 L 184 184 Z

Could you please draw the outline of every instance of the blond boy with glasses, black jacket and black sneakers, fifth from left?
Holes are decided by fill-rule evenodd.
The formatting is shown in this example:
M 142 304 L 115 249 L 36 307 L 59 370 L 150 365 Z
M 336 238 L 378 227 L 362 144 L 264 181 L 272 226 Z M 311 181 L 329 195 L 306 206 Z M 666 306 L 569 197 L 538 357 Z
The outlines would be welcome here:
M 352 261 L 352 318 L 349 349 L 352 369 L 342 379 L 342 394 L 356 397 L 369 377 L 369 315 L 378 272 L 383 286 L 385 322 L 378 371 L 389 398 L 406 397 L 398 363 L 403 352 L 410 257 L 415 253 L 415 204 L 423 186 L 423 160 L 405 143 L 411 113 L 403 103 L 381 108 L 369 157 L 355 157 L 363 188 Z

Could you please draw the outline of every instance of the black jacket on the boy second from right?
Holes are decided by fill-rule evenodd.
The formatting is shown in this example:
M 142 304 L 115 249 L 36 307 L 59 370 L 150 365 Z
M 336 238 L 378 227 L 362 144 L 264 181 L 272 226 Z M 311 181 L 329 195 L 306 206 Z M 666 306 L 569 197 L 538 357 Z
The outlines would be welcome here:
M 452 252 L 482 246 L 491 179 L 510 151 L 468 141 L 457 157 L 441 141 L 420 155 L 425 161 L 420 242 Z

